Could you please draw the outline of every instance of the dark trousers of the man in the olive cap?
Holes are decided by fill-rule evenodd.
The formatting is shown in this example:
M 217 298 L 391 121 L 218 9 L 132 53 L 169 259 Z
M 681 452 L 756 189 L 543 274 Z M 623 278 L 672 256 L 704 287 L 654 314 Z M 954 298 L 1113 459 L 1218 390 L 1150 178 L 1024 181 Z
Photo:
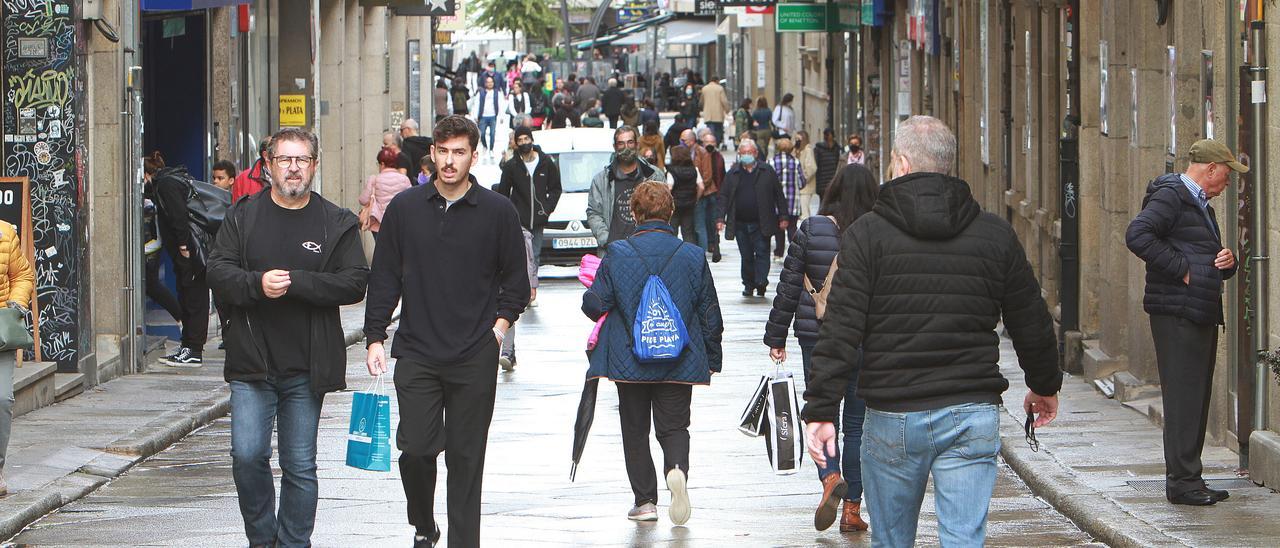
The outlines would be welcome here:
M 1178 316 L 1151 316 L 1165 403 L 1165 493 L 1175 497 L 1204 487 L 1201 449 L 1217 357 L 1217 326 Z

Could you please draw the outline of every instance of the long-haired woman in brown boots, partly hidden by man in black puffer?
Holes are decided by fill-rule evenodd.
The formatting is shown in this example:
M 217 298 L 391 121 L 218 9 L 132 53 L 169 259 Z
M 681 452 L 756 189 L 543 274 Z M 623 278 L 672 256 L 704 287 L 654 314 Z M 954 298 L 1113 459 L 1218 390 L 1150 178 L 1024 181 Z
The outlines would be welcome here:
M 879 183 L 867 168 L 850 164 L 841 168 L 835 181 L 827 186 L 818 215 L 800 223 L 800 229 L 791 241 L 787 257 L 778 275 L 778 293 L 773 297 L 773 310 L 764 326 L 764 344 L 769 347 L 769 357 L 782 362 L 787 359 L 787 328 L 795 328 L 796 342 L 800 344 L 800 357 L 804 364 L 805 380 L 809 378 L 809 362 L 813 347 L 818 343 L 818 330 L 826 312 L 828 284 L 836 270 L 835 260 L 840 254 L 840 237 L 845 228 L 858 218 L 872 211 L 879 196 Z M 859 355 L 856 359 L 861 359 Z M 865 531 L 867 521 L 861 517 L 863 479 L 859 451 L 861 448 L 863 419 L 867 405 L 855 389 L 858 370 L 849 382 L 845 394 L 845 411 L 840 426 L 845 434 L 845 444 L 840 455 L 827 458 L 828 466 L 818 469 L 822 481 L 822 499 L 814 513 L 814 526 L 827 530 L 836 520 L 836 510 L 842 506 L 840 520 L 841 533 Z M 842 503 L 842 504 L 841 504 Z

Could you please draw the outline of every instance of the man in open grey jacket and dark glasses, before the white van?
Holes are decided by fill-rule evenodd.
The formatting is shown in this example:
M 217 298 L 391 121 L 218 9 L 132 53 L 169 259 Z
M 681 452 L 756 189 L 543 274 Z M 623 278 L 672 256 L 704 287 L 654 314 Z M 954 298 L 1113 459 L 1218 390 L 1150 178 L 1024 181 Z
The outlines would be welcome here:
M 645 181 L 667 182 L 667 174 L 643 157 L 640 133 L 631 125 L 613 131 L 613 160 L 591 179 L 591 192 L 586 197 L 586 224 L 595 234 L 595 243 L 604 248 L 618 239 L 626 239 L 636 230 L 631 215 L 631 195 Z

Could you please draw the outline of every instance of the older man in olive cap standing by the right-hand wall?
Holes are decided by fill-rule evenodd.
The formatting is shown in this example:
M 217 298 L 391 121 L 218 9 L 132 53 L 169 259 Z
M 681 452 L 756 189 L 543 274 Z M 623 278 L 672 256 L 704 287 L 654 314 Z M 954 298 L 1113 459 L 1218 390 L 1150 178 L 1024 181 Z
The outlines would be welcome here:
M 1147 264 L 1143 310 L 1151 315 L 1160 392 L 1165 403 L 1165 497 L 1174 504 L 1210 506 L 1225 490 L 1201 475 L 1201 449 L 1222 325 L 1222 282 L 1235 274 L 1235 254 L 1210 198 L 1230 184 L 1230 173 L 1249 168 L 1212 140 L 1192 145 L 1185 173 L 1157 177 L 1147 186 L 1142 211 L 1129 223 L 1129 251 Z

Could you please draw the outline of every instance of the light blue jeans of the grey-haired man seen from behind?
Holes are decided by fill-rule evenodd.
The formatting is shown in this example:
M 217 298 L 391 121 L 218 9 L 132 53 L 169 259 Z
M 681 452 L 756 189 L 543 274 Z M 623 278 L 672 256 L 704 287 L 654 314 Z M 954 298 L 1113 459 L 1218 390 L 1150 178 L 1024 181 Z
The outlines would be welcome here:
M 938 543 L 980 547 L 996 487 L 1000 410 L 965 403 L 919 412 L 867 410 L 863 479 L 877 547 L 910 547 L 933 474 Z

